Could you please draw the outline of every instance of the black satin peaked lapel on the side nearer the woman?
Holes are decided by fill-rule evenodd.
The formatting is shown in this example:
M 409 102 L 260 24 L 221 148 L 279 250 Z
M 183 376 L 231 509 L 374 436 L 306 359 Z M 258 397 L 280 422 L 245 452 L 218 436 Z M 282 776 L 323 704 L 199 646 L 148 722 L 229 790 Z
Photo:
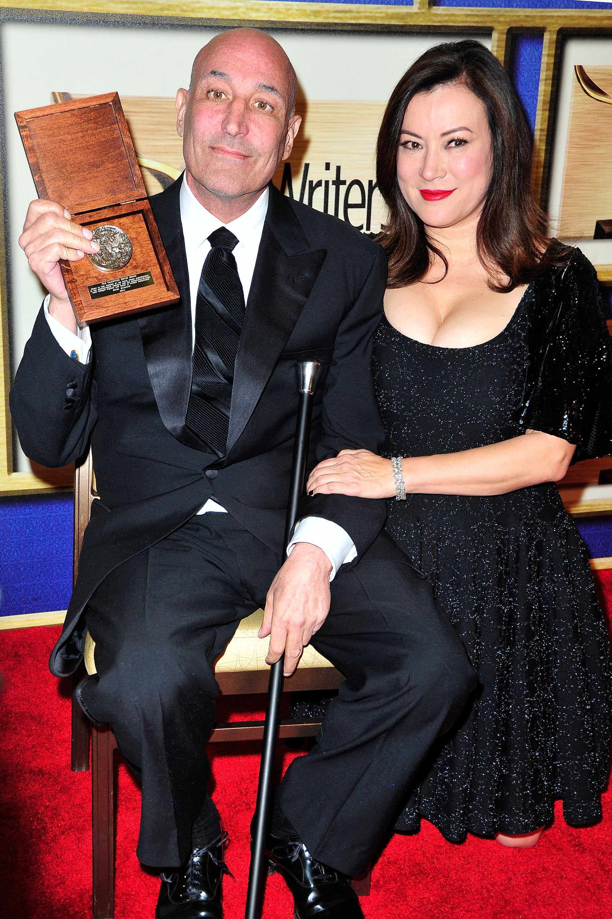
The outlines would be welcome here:
M 260 399 L 327 254 L 317 249 L 287 255 L 268 222 L 263 227 L 236 356 L 228 453 Z

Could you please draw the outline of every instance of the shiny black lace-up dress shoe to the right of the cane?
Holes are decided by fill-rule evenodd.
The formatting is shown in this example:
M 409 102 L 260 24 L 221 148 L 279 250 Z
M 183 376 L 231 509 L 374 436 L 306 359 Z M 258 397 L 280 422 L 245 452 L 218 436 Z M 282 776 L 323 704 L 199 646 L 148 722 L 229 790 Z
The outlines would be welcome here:
M 295 919 L 363 919 L 350 879 L 318 862 L 304 843 L 270 836 L 266 856 L 294 895 Z

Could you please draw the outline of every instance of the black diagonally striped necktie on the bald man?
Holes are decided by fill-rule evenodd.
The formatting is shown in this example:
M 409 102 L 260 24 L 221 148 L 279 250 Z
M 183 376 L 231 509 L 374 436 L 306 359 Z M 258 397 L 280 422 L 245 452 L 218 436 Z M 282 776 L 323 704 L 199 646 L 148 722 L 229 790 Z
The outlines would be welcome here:
M 208 237 L 195 303 L 195 346 L 185 425 L 218 457 L 228 446 L 234 362 L 244 321 L 244 292 L 232 249 L 238 240 L 227 227 Z

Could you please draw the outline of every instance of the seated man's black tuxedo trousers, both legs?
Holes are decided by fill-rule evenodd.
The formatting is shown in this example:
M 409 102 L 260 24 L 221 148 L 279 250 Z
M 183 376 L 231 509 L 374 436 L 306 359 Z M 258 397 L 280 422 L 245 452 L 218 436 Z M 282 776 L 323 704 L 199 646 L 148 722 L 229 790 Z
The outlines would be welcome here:
M 239 620 L 265 604 L 280 565 L 229 514 L 195 516 L 90 600 L 97 676 L 81 701 L 140 770 L 137 855 L 147 865 L 177 867 L 191 851 L 215 726 L 213 664 Z M 280 805 L 313 856 L 359 874 L 475 676 L 430 585 L 385 533 L 337 574 L 311 643 L 346 679 L 314 748 L 287 770 Z

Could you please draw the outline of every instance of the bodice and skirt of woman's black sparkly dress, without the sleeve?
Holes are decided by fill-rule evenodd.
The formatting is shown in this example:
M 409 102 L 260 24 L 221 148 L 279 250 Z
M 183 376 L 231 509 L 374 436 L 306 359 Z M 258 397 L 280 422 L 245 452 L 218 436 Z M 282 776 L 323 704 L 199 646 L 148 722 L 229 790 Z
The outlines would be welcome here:
M 532 282 L 506 329 L 473 347 L 421 344 L 383 319 L 374 379 L 385 456 L 524 433 L 539 290 Z M 609 643 L 584 543 L 556 485 L 388 504 L 388 531 L 431 580 L 481 683 L 395 828 L 416 833 L 425 817 L 453 842 L 529 833 L 551 823 L 557 799 L 568 823 L 595 823 L 609 765 Z

